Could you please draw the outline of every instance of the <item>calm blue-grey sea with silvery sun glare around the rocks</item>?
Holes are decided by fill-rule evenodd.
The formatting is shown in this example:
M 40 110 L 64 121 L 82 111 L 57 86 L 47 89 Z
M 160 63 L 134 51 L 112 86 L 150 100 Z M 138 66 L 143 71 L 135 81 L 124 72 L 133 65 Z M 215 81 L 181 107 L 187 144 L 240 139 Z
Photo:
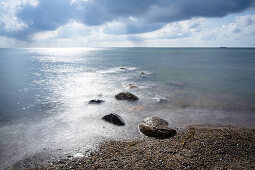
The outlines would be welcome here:
M 116 101 L 121 91 L 140 100 Z M 106 102 L 88 105 L 91 99 Z M 126 126 L 103 122 L 109 113 Z M 102 139 L 139 136 L 139 121 L 152 115 L 173 127 L 254 127 L 255 49 L 0 49 L 1 167 L 34 153 L 79 156 Z

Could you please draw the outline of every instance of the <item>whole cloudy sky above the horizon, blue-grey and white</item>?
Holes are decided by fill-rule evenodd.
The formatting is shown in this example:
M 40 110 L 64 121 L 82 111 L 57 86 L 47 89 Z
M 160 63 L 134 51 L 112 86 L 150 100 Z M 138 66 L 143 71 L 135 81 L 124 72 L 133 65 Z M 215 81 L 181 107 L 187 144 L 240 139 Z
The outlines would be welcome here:
M 0 0 L 0 47 L 254 47 L 255 0 Z

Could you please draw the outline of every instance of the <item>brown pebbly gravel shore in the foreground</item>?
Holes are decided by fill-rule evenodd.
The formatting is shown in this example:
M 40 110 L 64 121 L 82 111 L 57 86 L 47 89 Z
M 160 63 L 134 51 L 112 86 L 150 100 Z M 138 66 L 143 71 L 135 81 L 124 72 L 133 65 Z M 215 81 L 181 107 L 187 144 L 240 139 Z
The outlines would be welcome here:
M 18 169 L 255 169 L 255 129 L 193 125 L 169 139 L 108 141 L 88 157 Z

